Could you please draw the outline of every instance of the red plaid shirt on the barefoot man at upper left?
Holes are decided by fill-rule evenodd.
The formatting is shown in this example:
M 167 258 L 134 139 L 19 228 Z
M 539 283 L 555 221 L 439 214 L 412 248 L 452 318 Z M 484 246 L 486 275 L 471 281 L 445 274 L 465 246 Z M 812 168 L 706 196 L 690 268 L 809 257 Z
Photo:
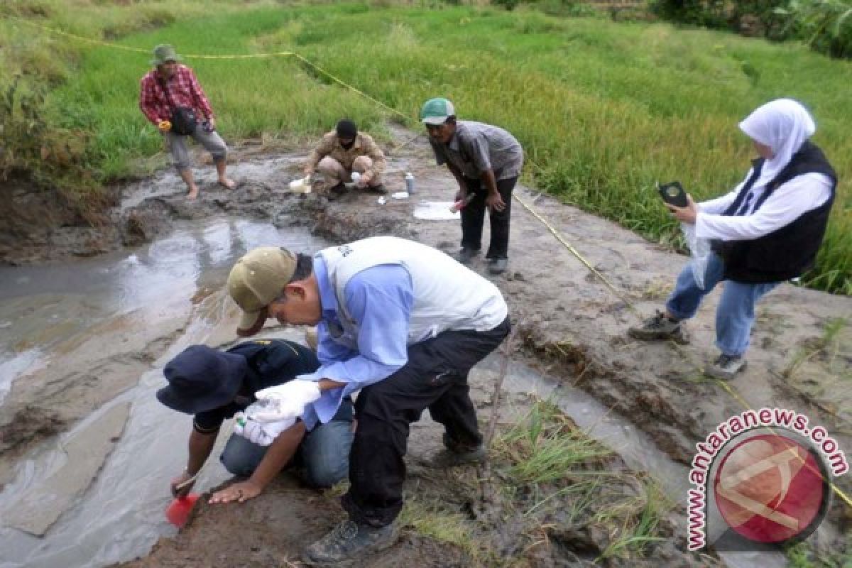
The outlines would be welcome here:
M 142 113 L 154 124 L 168 120 L 171 116 L 171 105 L 157 70 L 147 72 L 140 83 L 139 108 Z M 213 109 L 192 69 L 185 65 L 178 66 L 175 74 L 165 83 L 175 106 L 190 106 L 199 117 L 213 118 Z

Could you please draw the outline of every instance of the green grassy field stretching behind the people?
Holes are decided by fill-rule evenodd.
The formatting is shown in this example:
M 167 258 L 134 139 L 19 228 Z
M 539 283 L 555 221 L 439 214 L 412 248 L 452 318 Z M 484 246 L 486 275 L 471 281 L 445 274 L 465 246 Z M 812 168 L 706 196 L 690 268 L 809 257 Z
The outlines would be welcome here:
M 802 45 L 667 24 L 557 17 L 523 6 L 507 12 L 393 4 L 219 0 L 201 11 L 189 2 L 18 0 L 0 10 L 138 49 L 173 43 L 188 55 L 296 51 L 411 117 L 415 128 L 423 100 L 446 96 L 461 118 L 498 124 L 521 141 L 535 186 L 665 244 L 679 244 L 678 227 L 660 206 L 654 181 L 679 179 L 696 199 L 727 191 L 753 157 L 737 123 L 768 100 L 797 98 L 814 112 L 815 142 L 841 179 L 826 243 L 805 280 L 852 293 L 848 62 Z M 43 70 L 39 77 L 52 87 L 49 123 L 88 133 L 83 159 L 98 180 L 128 175 L 160 150 L 136 106 L 147 55 L 25 33 L 9 21 L 2 26 L 0 42 L 17 42 L 15 61 L 34 62 L 10 62 L 0 50 L 3 77 L 7 67 L 12 74 Z M 232 142 L 314 136 L 342 116 L 379 134 L 385 120 L 400 120 L 292 57 L 187 62 Z

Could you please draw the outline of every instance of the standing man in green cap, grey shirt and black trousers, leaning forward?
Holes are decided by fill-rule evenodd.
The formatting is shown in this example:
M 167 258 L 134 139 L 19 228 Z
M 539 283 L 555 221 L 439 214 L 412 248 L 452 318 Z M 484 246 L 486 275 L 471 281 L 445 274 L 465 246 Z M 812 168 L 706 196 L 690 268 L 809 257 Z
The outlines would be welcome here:
M 462 248 L 456 259 L 468 264 L 482 244 L 485 210 L 491 220 L 488 272 L 501 274 L 509 259 L 509 214 L 512 190 L 521 175 L 524 152 L 504 129 L 472 120 L 456 120 L 452 102 L 429 99 L 420 112 L 429 132 L 435 160 L 446 164 L 458 181 L 457 201 L 467 202 L 462 214 Z

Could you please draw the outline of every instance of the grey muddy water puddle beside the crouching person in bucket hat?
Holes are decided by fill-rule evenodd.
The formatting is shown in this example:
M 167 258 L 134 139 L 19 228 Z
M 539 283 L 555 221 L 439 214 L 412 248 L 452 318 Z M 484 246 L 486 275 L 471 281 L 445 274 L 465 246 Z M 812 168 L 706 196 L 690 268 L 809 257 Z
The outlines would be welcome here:
M 267 223 L 207 220 L 181 224 L 167 238 L 130 253 L 0 268 L 0 404 L 14 396 L 15 381 L 66 358 L 84 357 L 78 355 L 79 346 L 94 342 L 101 352 L 110 349 L 127 322 L 147 328 L 176 316 L 182 315 L 183 322 L 188 318 L 168 353 L 157 353 L 150 370 L 134 377 L 135 386 L 19 463 L 14 480 L 0 493 L 0 518 L 9 522 L 15 517 L 12 509 L 24 507 L 24 497 L 55 502 L 57 473 L 61 477 L 72 461 L 67 447 L 79 445 L 81 436 L 84 443 L 87 432 L 93 427 L 97 432 L 99 420 L 130 404 L 124 433 L 95 481 L 78 495 L 62 495 L 69 506 L 45 536 L 3 523 L 0 568 L 102 566 L 147 554 L 160 536 L 175 533 L 164 509 L 170 502 L 169 480 L 185 465 L 192 418 L 158 403 L 154 393 L 164 385 L 160 368 L 189 344 L 233 339 L 233 307 L 222 283 L 240 255 L 269 244 L 305 252 L 326 245 L 308 232 L 283 232 Z M 199 488 L 229 477 L 211 457 Z M 42 487 L 54 493 L 39 493 Z

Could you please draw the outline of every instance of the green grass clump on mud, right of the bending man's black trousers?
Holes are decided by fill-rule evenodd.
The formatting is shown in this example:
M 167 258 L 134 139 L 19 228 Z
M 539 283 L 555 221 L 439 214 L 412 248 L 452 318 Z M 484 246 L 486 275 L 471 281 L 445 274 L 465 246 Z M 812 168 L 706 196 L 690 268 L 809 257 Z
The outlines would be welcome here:
M 646 558 L 654 542 L 665 540 L 662 523 L 672 504 L 659 486 L 626 471 L 612 450 L 590 439 L 555 405 L 533 404 L 523 420 L 495 439 L 493 453 L 498 478 L 508 482 L 530 540 L 541 527 L 550 527 L 539 536 L 544 541 L 584 533 L 584 546 L 596 548 L 596 559 L 619 562 Z

